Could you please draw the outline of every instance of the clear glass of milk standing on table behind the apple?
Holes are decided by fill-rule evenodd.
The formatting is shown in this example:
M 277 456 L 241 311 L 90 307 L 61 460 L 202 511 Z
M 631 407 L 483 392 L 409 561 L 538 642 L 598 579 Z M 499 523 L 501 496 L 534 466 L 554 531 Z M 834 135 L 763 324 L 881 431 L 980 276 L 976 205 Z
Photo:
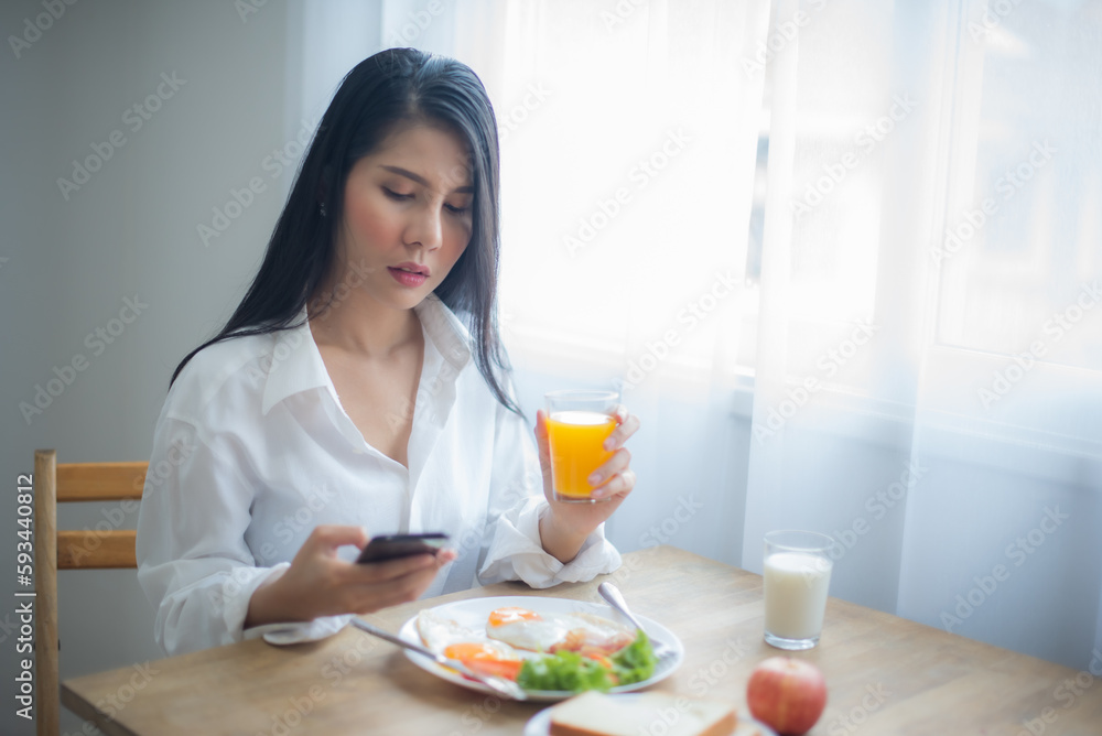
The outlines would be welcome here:
M 778 649 L 811 649 L 819 643 L 827 589 L 834 566 L 834 543 L 813 531 L 770 531 L 765 535 L 765 640 Z

